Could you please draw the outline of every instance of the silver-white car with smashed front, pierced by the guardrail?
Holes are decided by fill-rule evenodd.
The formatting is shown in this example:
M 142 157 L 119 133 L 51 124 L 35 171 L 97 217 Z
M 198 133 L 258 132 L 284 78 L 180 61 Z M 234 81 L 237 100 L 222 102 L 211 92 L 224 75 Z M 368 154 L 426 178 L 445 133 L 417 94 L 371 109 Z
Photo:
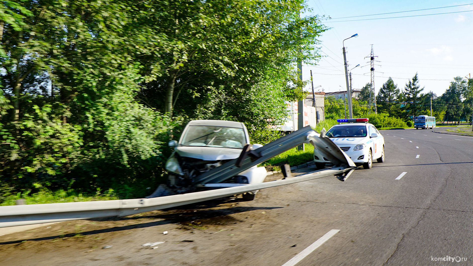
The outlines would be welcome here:
M 248 131 L 241 122 L 225 120 L 193 120 L 184 128 L 179 142 L 171 140 L 174 152 L 166 162 L 169 172 L 168 186 L 192 186 L 200 174 L 238 158 L 243 147 L 250 143 Z M 254 144 L 253 149 L 261 147 Z M 204 188 L 228 188 L 262 183 L 266 177 L 264 167 L 252 167 L 221 183 L 206 183 Z M 253 200 L 257 191 L 243 194 Z

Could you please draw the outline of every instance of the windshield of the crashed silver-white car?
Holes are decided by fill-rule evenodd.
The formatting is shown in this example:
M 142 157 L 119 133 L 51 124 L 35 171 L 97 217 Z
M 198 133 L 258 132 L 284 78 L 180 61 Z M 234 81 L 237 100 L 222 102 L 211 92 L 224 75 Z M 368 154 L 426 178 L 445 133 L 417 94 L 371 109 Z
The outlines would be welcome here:
M 246 139 L 244 130 L 239 128 L 189 126 L 180 144 L 241 149 L 246 144 Z

